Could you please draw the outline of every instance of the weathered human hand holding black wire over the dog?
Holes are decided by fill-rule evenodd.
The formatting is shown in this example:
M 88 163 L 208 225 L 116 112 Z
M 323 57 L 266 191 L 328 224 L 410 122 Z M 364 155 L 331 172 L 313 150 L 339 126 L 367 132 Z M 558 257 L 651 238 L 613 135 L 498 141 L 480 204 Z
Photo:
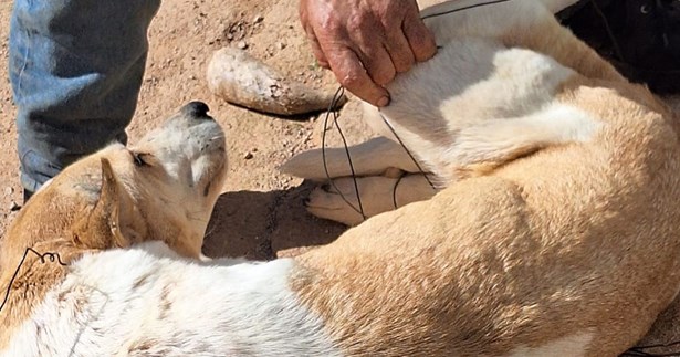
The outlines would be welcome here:
M 416 0 L 301 0 L 300 19 L 318 63 L 376 106 L 397 73 L 437 52 Z

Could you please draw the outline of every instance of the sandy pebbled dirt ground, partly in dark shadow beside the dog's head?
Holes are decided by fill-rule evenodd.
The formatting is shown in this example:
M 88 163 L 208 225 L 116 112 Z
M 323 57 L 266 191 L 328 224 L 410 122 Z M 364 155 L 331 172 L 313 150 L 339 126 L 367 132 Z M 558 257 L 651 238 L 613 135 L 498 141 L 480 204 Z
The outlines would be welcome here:
M 0 1 L 0 237 L 22 203 L 15 107 L 7 73 L 11 6 Z M 334 91 L 333 75 L 315 65 L 296 9 L 297 0 L 165 0 L 149 30 L 150 51 L 128 128 L 130 143 L 190 101 L 206 102 L 227 130 L 230 172 L 208 229 L 208 255 L 271 259 L 282 250 L 329 242 L 345 229 L 310 216 L 302 200 L 312 186 L 276 169 L 293 154 L 318 146 L 321 114 L 258 114 L 213 96 L 206 83 L 213 51 L 245 46 L 287 77 Z M 351 141 L 370 135 L 355 101 L 345 106 L 339 123 Z M 328 139 L 338 143 L 336 133 Z

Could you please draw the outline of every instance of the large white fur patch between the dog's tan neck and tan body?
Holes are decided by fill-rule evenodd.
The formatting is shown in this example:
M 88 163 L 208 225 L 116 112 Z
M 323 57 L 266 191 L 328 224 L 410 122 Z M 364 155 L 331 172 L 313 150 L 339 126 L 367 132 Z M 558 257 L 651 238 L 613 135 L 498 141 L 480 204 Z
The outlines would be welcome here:
M 289 288 L 293 270 L 290 259 L 191 261 L 157 242 L 86 255 L 2 355 L 338 355 Z

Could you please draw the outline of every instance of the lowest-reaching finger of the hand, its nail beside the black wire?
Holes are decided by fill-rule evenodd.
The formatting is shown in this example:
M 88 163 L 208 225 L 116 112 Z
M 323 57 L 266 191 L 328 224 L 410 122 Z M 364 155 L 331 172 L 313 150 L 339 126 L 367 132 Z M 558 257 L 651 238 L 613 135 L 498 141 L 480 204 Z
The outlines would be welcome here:
M 348 48 L 333 51 L 328 63 L 337 81 L 354 95 L 375 106 L 389 104 L 389 94 L 368 75 L 357 54 Z

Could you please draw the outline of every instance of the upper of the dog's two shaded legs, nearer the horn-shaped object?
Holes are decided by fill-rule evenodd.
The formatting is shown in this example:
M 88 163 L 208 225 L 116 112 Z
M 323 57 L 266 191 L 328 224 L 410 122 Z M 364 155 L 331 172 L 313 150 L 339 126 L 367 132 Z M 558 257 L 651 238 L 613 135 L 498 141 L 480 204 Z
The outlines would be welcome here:
M 347 150 L 352 158 L 352 166 L 347 159 Z M 347 148 L 314 149 L 304 151 L 291 158 L 280 169 L 284 174 L 314 181 L 326 181 L 329 178 L 352 176 L 381 176 L 391 168 L 401 171 L 417 172 L 418 168 L 407 151 L 399 144 L 385 138 L 376 137 L 359 145 Z

